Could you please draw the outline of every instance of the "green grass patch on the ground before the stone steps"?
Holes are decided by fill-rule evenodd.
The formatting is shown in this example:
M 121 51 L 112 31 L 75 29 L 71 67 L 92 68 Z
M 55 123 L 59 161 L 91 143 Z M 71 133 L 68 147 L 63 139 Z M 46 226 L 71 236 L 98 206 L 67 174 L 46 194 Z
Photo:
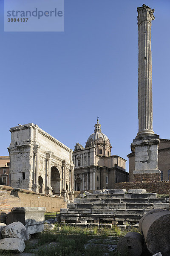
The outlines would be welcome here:
M 37 244 L 30 245 L 29 241 L 26 242 L 25 251 L 29 253 L 37 248 L 35 256 L 104 256 L 105 253 L 113 256 L 113 251 L 110 252 L 101 242 L 107 245 L 106 239 L 111 239 L 111 244 L 115 244 L 119 240 L 118 236 L 123 236 L 124 233 L 116 226 L 112 230 L 103 228 L 102 233 L 98 233 L 97 229 L 98 227 L 90 229 L 63 225 L 59 232 L 54 229 L 35 234 Z M 108 237 L 111 235 L 113 237 Z M 95 239 L 97 245 L 88 243 L 91 239 Z

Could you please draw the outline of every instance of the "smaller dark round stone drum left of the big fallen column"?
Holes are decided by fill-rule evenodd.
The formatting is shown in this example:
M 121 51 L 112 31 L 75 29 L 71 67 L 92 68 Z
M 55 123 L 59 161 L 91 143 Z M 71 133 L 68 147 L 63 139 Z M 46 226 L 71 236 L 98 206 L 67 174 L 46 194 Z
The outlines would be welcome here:
M 121 255 L 141 256 L 143 237 L 137 232 L 129 232 L 121 238 L 117 244 L 117 250 Z

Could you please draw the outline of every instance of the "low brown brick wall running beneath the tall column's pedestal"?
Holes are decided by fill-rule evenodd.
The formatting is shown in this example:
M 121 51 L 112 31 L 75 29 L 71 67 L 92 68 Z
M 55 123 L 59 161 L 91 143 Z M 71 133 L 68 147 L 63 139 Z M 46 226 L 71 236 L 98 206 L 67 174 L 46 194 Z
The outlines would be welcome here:
M 169 194 L 170 192 L 168 181 L 122 182 L 116 183 L 115 189 L 146 189 L 147 192 L 158 194 Z

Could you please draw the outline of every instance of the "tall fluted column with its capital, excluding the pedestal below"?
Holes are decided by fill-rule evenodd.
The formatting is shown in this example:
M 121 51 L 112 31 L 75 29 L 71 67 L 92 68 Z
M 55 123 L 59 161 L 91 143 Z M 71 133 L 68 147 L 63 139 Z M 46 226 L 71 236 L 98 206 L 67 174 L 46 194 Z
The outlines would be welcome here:
M 137 136 L 154 134 L 152 110 L 152 56 L 151 56 L 151 22 L 155 19 L 154 9 L 143 5 L 138 12 L 138 119 Z

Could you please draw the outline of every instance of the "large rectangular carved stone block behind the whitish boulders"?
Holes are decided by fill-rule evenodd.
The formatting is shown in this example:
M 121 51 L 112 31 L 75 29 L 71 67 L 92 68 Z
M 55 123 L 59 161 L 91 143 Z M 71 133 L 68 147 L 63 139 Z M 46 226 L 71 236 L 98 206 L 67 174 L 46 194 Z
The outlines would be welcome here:
M 29 235 L 42 232 L 44 229 L 45 212 L 45 207 L 14 207 L 8 213 L 6 223 L 22 222 Z

